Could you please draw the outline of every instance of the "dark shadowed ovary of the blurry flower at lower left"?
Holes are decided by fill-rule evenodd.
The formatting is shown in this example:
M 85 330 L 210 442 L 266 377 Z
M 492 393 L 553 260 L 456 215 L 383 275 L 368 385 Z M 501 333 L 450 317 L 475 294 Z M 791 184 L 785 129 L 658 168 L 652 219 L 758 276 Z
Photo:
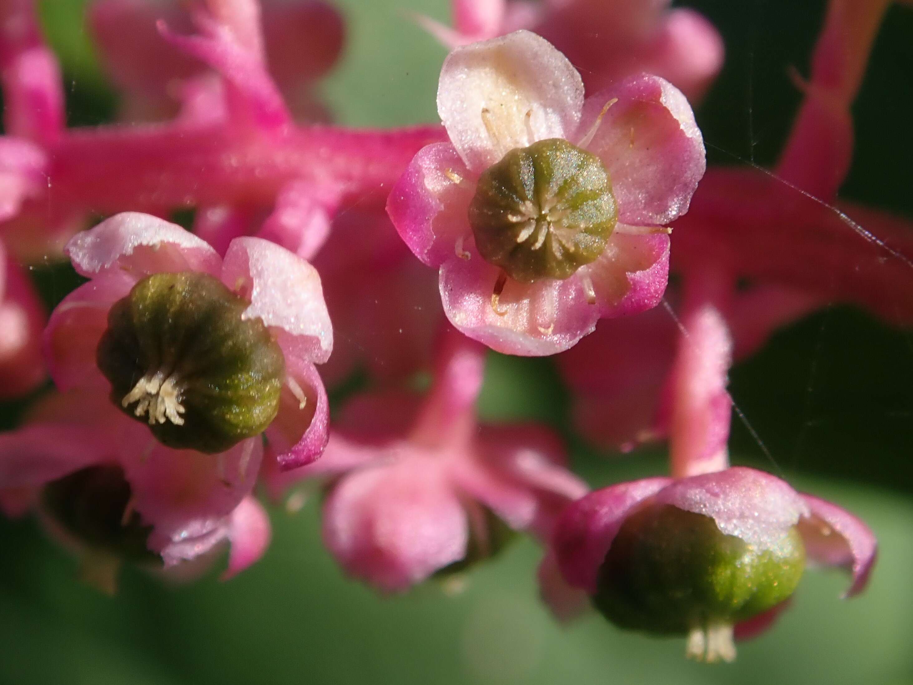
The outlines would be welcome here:
M 116 465 L 90 466 L 42 490 L 45 513 L 92 550 L 139 564 L 161 564 L 162 558 L 147 547 L 152 526 L 131 511 L 130 483 Z

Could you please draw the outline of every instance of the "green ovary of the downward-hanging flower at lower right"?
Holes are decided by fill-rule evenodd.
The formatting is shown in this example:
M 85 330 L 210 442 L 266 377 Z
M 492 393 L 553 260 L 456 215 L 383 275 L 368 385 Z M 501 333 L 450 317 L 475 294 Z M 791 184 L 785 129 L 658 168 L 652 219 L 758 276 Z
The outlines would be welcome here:
M 599 571 L 593 604 L 616 626 L 685 635 L 733 626 L 792 595 L 805 567 L 793 526 L 759 550 L 708 516 L 671 505 L 631 514 Z

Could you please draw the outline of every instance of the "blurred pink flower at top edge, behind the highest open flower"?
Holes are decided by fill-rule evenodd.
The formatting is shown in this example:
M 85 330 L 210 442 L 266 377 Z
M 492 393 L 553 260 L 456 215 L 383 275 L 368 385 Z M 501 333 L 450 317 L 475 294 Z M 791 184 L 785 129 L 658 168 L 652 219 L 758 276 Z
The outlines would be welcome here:
M 580 69 L 587 90 L 646 71 L 698 100 L 723 64 L 723 41 L 697 12 L 669 0 L 453 0 L 450 29 L 420 17 L 456 47 L 526 28 Z

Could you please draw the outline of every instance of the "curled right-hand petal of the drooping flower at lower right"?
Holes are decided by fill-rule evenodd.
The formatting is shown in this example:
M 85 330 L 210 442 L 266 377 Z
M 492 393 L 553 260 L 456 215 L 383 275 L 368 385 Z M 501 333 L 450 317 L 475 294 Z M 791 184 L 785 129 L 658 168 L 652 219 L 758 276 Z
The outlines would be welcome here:
M 831 502 L 803 495 L 812 511 L 811 517 L 799 523 L 805 552 L 809 558 L 827 566 L 840 566 L 853 574 L 853 584 L 846 597 L 866 589 L 878 553 L 875 533 L 853 514 Z

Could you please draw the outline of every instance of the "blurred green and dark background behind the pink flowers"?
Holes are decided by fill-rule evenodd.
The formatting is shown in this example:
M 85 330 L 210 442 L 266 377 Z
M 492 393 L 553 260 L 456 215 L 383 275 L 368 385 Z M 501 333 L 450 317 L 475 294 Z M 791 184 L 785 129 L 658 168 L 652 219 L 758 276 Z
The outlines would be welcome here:
M 46 0 L 43 18 L 68 82 L 74 124 L 110 118 L 110 92 L 82 26 L 83 0 Z M 352 125 L 436 121 L 443 48 L 407 18 L 446 19 L 444 0 L 341 0 L 349 44 L 322 86 Z M 775 159 L 799 100 L 824 2 L 688 3 L 719 26 L 726 68 L 698 111 L 715 163 Z M 855 108 L 857 148 L 844 195 L 913 217 L 913 10 L 887 16 Z M 611 40 L 611 37 L 606 37 Z M 70 281 L 45 278 L 57 300 Z M 273 511 L 266 558 L 236 580 L 163 586 L 127 571 L 114 598 L 80 585 L 76 564 L 32 521 L 0 520 L 0 683 L 859 683 L 913 684 L 913 337 L 834 308 L 779 333 L 732 374 L 732 394 L 769 449 L 738 421 L 733 459 L 857 512 L 876 531 L 866 595 L 844 602 L 839 574 L 806 574 L 792 609 L 740 647 L 732 666 L 683 659 L 681 640 L 623 634 L 590 616 L 561 627 L 537 600 L 535 544 L 516 544 L 469 576 L 397 597 L 343 578 L 320 544 L 318 506 Z M 662 472 L 663 456 L 587 448 L 569 430 L 548 361 L 493 355 L 481 401 L 492 420 L 561 429 L 594 486 Z M 16 406 L 3 407 L 5 425 Z

